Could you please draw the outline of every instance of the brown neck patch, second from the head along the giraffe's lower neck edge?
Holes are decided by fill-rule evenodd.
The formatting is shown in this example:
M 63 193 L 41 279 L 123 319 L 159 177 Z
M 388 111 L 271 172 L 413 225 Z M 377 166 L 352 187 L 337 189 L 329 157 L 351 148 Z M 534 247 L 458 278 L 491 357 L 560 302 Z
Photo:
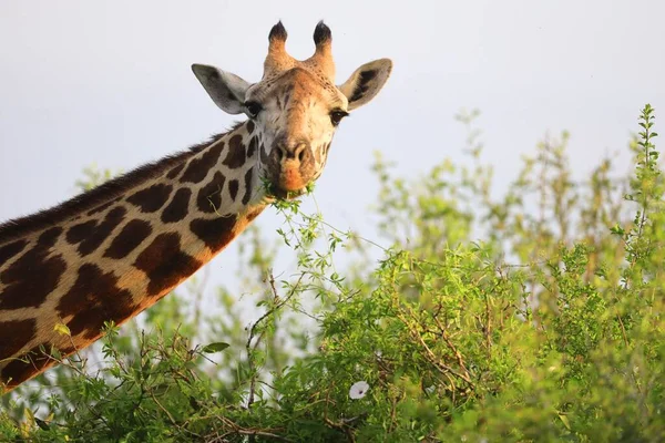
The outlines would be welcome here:
M 181 250 L 180 234 L 160 234 L 136 258 L 134 266 L 147 275 L 149 296 L 160 296 L 203 266 Z

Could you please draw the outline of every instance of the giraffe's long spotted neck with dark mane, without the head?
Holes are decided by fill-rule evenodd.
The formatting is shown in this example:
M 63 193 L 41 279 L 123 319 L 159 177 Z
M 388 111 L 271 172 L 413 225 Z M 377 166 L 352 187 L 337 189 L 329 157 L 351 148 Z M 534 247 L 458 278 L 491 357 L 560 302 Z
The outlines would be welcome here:
M 121 324 L 152 306 L 260 214 L 253 131 L 248 121 L 0 226 L 0 388 L 50 367 L 39 349 L 70 354 L 105 321 Z

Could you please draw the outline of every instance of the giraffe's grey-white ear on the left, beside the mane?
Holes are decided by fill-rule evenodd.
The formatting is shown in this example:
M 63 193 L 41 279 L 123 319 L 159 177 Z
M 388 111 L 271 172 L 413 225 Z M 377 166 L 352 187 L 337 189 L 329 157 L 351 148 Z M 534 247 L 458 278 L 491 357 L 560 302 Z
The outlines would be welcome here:
M 236 74 L 206 64 L 193 64 L 192 71 L 222 111 L 229 114 L 243 112 L 245 92 L 249 87 L 249 83 Z

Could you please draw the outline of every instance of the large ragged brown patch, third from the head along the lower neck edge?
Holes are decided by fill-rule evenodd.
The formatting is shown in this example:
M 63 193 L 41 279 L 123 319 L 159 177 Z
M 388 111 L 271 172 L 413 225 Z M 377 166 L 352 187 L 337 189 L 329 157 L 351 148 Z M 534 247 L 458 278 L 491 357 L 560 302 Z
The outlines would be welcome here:
M 135 306 L 132 293 L 117 287 L 113 271 L 104 272 L 96 265 L 83 264 L 76 281 L 58 303 L 60 316 L 73 316 L 68 321 L 72 336 L 99 337 L 104 321 L 122 322 L 131 317 Z

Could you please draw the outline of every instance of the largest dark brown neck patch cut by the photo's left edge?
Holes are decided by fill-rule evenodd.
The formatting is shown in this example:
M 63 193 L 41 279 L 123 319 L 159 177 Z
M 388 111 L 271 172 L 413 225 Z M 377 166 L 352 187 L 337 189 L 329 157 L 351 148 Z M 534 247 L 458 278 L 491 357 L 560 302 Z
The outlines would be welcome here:
M 0 309 L 37 308 L 58 286 L 66 262 L 61 255 L 49 254 L 60 234 L 58 226 L 43 231 L 32 249 L 0 274 L 0 282 L 6 285 Z

